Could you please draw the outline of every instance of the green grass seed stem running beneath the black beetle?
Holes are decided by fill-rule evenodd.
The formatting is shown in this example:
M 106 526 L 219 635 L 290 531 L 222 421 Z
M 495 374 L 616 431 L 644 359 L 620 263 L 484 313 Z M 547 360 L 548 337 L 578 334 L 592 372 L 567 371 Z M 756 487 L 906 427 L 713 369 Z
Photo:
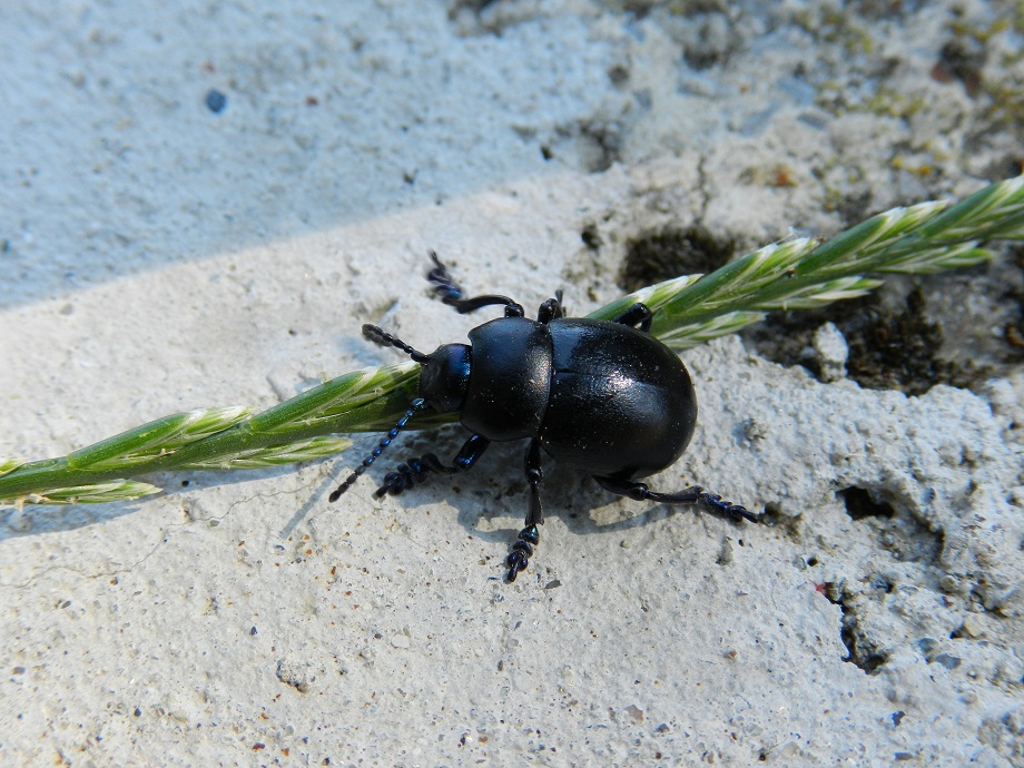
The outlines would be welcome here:
M 965 200 L 894 208 L 821 243 L 795 238 L 747 254 L 709 275 L 641 288 L 589 315 L 611 319 L 637 302 L 652 333 L 676 349 L 735 333 L 772 309 L 824 306 L 864 295 L 886 273 L 931 274 L 992 258 L 981 243 L 1024 239 L 1024 177 Z M 414 363 L 365 368 L 321 384 L 262 413 L 221 407 L 142 424 L 67 456 L 0 459 L 0 504 L 71 504 L 158 493 L 131 480 L 173 470 L 255 469 L 312 461 L 352 443 L 344 435 L 388 430 L 416 396 Z M 411 426 L 454 420 L 424 414 Z

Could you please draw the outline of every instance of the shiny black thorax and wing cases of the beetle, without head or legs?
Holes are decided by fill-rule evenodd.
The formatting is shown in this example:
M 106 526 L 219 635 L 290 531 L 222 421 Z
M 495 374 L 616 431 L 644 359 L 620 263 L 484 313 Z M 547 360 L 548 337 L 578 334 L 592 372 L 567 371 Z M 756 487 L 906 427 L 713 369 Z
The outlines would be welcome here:
M 589 474 L 643 477 L 672 464 L 697 423 L 678 355 L 619 323 L 504 317 L 470 332 L 462 423 L 493 441 L 536 437 Z

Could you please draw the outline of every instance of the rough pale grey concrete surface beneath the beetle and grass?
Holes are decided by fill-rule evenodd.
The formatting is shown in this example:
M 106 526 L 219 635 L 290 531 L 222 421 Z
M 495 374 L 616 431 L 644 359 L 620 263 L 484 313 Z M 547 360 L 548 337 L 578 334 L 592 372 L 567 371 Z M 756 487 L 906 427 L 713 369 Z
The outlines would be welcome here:
M 1012 2 L 284 6 L 6 4 L 0 455 L 397 361 L 363 322 L 461 339 L 431 247 L 584 314 L 643 233 L 828 235 L 1024 154 Z M 549 464 L 508 585 L 523 446 L 328 505 L 371 436 L 3 511 L 0 764 L 1024 765 L 1021 366 L 908 397 L 737 337 L 685 360 L 701 422 L 657 486 L 772 525 Z

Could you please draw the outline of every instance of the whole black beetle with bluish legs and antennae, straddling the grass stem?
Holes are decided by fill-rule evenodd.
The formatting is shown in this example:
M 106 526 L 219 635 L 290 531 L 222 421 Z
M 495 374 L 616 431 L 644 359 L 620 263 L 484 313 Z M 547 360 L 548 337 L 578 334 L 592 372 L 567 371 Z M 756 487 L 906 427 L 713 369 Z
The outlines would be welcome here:
M 561 292 L 541 304 L 536 321 L 508 296 L 463 298 L 462 288 L 431 252 L 427 279 L 460 314 L 502 305 L 505 316 L 473 328 L 471 344 L 444 344 L 430 355 L 413 349 L 375 325 L 363 334 L 394 346 L 420 363 L 420 396 L 405 415 L 335 490 L 337 501 L 419 411 L 459 412 L 472 436 L 451 466 L 433 453 L 401 464 L 384 476 L 381 498 L 422 482 L 429 471 L 455 474 L 476 463 L 491 441 L 530 439 L 526 483 L 530 509 L 506 564 L 509 581 L 526 568 L 544 522 L 541 452 L 591 474 L 608 491 L 637 501 L 703 503 L 719 516 L 757 522 L 746 508 L 700 486 L 656 493 L 636 477 L 660 472 L 682 455 L 697 424 L 697 397 L 679 356 L 650 335 L 651 311 L 634 304 L 611 322 L 567 318 Z

